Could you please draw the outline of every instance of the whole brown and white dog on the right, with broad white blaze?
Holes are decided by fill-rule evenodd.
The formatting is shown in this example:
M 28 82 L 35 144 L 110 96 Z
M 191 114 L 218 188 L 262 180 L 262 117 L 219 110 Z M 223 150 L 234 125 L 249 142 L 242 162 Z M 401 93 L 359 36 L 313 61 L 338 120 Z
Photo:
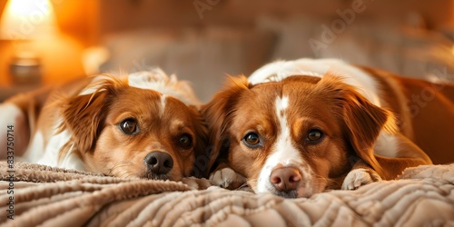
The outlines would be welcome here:
M 415 95 L 429 96 L 417 112 L 411 110 Z M 213 146 L 210 165 L 220 163 L 210 179 L 223 187 L 247 181 L 254 192 L 309 197 L 432 163 L 423 150 L 438 163 L 453 162 L 453 101 L 452 84 L 340 60 L 267 64 L 249 79 L 232 77 L 202 107 Z

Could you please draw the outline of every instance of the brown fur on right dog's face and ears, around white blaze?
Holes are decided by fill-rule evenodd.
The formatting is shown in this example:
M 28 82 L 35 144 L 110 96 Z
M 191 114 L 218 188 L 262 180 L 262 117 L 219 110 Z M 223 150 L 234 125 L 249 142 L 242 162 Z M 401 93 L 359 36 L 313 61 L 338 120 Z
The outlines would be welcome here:
M 343 178 L 354 168 L 369 166 L 381 178 L 393 179 L 406 167 L 431 163 L 418 146 L 400 134 L 396 116 L 389 109 L 371 104 L 355 88 L 331 74 L 321 80 L 291 76 L 281 82 L 257 85 L 248 84 L 244 76 L 232 77 L 202 108 L 215 148 L 211 163 L 216 158 L 228 163 L 254 189 L 279 130 L 273 104 L 284 93 L 291 102 L 286 111 L 293 145 L 314 172 L 312 192 L 340 188 Z M 321 143 L 303 142 L 311 125 L 326 134 Z M 252 129 L 265 141 L 261 148 L 250 149 L 242 143 L 245 133 Z M 396 158 L 374 155 L 381 131 L 396 134 L 402 150 L 408 153 L 398 153 Z M 360 161 L 365 163 L 358 164 Z

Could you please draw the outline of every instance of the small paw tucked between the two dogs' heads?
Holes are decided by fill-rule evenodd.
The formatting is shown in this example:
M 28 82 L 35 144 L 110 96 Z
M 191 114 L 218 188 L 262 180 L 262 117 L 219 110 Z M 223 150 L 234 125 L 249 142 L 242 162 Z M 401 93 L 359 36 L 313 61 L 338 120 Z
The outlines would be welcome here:
M 246 178 L 234 172 L 231 168 L 217 170 L 210 175 L 210 183 L 225 189 L 237 189 L 245 184 Z

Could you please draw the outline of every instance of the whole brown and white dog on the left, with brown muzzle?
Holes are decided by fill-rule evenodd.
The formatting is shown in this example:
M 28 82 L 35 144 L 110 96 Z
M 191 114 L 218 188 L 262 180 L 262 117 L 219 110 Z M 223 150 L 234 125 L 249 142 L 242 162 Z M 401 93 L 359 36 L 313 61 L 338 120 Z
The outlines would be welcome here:
M 19 94 L 0 105 L 0 125 L 14 127 L 26 162 L 179 181 L 206 143 L 198 104 L 189 84 L 154 69 Z

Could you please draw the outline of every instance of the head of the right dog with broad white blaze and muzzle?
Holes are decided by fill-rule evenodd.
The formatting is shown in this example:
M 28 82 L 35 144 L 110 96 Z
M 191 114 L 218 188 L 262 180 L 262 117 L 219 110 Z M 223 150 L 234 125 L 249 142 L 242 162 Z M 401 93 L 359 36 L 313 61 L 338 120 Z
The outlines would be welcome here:
M 225 158 L 252 190 L 283 197 L 339 188 L 359 158 L 382 173 L 373 144 L 382 129 L 395 130 L 390 112 L 331 74 L 256 85 L 233 77 L 202 113 L 211 164 Z

